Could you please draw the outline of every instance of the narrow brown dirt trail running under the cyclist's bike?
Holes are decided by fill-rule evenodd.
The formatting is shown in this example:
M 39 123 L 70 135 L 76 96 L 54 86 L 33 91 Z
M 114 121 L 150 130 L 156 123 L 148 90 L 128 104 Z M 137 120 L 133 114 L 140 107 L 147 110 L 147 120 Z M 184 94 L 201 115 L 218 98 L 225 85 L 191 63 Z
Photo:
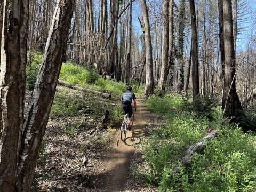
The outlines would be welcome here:
M 101 175 L 101 182 L 95 183 L 99 191 L 125 191 L 124 186 L 129 174 L 130 160 L 134 154 L 134 146 L 141 142 L 141 137 L 147 133 L 146 120 L 148 111 L 146 106 L 137 102 L 137 112 L 134 113 L 134 123 L 131 131 L 121 141 L 120 131 L 113 134 L 113 147 L 105 164 L 105 173 Z

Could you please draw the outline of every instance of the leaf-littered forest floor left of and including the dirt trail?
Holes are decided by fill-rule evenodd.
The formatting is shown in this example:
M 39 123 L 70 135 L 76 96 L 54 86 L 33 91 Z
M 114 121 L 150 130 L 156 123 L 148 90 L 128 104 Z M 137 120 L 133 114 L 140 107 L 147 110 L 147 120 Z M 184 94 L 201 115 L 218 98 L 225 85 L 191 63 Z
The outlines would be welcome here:
M 90 97 L 106 102 L 95 95 Z M 134 178 L 132 166 L 142 162 L 141 143 L 148 137 L 148 129 L 153 129 L 158 121 L 145 104 L 138 102 L 132 130 L 122 142 L 120 125 L 103 128 L 102 118 L 50 119 L 33 190 L 157 191 Z

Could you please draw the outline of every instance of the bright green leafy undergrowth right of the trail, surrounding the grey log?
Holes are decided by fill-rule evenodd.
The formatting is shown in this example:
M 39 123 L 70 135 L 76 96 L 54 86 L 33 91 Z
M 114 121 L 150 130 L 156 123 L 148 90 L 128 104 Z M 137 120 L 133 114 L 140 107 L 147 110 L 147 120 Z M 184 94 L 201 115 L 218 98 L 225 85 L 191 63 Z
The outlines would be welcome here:
M 143 163 L 137 166 L 146 171 L 133 168 L 135 177 L 160 191 L 255 191 L 255 134 L 229 124 L 210 100 L 197 102 L 201 104 L 171 94 L 147 100 L 148 110 L 164 116 L 167 123 L 151 131 L 143 143 Z M 180 164 L 180 172 L 171 177 L 187 148 L 212 129 L 217 129 L 217 138 L 193 156 L 189 167 Z

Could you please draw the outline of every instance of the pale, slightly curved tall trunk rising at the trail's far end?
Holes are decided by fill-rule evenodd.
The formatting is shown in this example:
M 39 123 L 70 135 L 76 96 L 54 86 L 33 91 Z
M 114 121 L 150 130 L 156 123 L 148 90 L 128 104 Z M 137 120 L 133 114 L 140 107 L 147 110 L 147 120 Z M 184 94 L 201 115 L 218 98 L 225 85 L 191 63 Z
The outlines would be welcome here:
M 154 92 L 154 77 L 153 77 L 153 60 L 152 60 L 152 43 L 150 34 L 150 25 L 148 18 L 148 8 L 146 0 L 140 0 L 141 8 L 144 20 L 144 31 L 145 31 L 145 44 L 146 44 L 146 84 L 145 90 L 142 94 L 143 97 L 147 97 Z

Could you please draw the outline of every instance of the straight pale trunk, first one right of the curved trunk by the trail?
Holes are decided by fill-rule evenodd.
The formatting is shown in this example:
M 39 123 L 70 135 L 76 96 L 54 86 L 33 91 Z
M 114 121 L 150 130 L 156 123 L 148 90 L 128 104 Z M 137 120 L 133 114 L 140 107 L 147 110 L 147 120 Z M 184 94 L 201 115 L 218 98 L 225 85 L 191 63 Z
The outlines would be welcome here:
M 172 7 L 170 8 L 172 9 Z M 167 76 L 168 69 L 168 56 L 169 56 L 169 0 L 164 0 L 163 7 L 163 17 L 164 17 L 164 47 L 163 47 L 163 55 L 162 55 L 162 67 L 161 74 L 159 78 L 158 86 L 161 90 L 165 90 L 166 80 L 164 81 L 164 77 Z M 170 15 L 171 17 L 171 15 Z M 172 23 L 170 23 L 172 25 Z

